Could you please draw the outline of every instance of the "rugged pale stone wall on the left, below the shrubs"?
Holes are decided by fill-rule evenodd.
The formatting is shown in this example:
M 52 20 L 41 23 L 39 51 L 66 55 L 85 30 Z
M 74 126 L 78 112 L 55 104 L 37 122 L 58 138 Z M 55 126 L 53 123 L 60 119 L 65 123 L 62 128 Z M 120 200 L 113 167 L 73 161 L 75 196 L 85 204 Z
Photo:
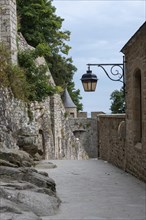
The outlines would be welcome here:
M 28 107 L 1 88 L 0 147 L 22 149 L 38 159 L 78 159 L 80 143 L 64 112 L 59 95 Z

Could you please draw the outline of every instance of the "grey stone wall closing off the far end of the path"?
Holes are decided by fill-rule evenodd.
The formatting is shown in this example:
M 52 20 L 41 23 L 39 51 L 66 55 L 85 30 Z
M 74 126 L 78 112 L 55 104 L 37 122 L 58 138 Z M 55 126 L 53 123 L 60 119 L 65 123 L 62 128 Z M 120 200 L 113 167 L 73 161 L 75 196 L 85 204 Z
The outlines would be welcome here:
M 97 118 L 69 119 L 71 129 L 89 158 L 98 157 Z M 86 158 L 84 158 L 86 159 Z

